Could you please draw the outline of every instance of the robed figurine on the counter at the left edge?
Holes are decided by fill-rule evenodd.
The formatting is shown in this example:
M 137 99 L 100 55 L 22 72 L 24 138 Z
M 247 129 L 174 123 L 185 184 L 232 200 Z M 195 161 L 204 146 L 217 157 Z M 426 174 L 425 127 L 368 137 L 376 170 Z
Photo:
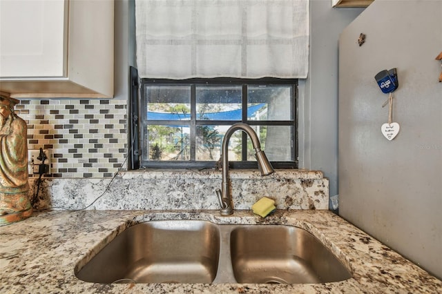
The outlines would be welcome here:
M 19 100 L 0 94 L 0 226 L 30 217 L 28 128 L 14 112 Z

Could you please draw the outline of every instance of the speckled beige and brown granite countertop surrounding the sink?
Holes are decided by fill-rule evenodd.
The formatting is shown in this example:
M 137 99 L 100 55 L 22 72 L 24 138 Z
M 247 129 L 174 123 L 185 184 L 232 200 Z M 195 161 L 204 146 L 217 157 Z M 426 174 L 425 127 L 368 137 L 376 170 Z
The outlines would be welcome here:
M 324 284 L 94 284 L 75 277 L 124 228 L 159 219 L 216 224 L 287 224 L 309 231 L 353 277 Z M 442 282 L 327 210 L 52 210 L 0 226 L 0 293 L 442 293 Z

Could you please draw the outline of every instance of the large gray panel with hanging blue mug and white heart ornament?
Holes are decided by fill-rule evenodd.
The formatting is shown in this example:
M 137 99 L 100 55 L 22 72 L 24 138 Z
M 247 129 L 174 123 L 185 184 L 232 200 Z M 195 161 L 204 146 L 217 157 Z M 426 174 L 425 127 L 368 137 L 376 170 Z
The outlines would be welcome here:
M 339 213 L 442 277 L 442 1 L 376 0 L 340 37 Z M 376 21 L 374 21 L 376 20 Z M 366 42 L 359 47 L 358 35 Z M 374 75 L 397 68 L 392 141 Z

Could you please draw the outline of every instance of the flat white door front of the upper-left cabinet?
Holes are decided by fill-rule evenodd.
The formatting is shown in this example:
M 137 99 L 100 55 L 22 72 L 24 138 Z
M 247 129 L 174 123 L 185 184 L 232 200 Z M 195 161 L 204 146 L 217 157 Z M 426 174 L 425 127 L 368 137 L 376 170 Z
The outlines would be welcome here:
M 66 75 L 68 2 L 0 1 L 0 77 Z

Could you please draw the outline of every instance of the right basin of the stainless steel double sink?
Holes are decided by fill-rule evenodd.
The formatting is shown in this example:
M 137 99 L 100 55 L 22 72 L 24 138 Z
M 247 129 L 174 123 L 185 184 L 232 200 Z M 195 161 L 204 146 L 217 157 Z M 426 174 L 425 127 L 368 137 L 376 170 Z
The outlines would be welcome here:
M 324 283 L 352 277 L 316 237 L 294 226 L 233 229 L 231 262 L 239 283 Z

